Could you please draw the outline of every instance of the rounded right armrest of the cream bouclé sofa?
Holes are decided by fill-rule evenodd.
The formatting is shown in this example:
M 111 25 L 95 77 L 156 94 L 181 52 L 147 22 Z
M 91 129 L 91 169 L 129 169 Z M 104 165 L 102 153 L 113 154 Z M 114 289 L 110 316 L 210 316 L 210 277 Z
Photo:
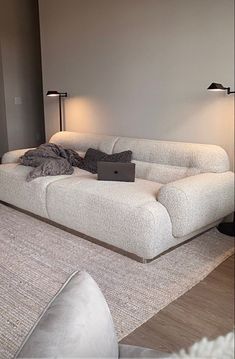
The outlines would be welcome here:
M 234 211 L 234 173 L 203 173 L 161 187 L 174 237 L 183 237 Z

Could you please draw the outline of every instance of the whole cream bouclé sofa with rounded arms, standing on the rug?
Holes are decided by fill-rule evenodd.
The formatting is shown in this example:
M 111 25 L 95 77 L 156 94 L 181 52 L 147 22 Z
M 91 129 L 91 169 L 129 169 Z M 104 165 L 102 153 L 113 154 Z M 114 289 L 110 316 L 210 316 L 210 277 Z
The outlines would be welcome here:
M 0 201 L 96 238 L 143 259 L 217 225 L 234 211 L 234 174 L 219 146 L 75 132 L 50 140 L 80 154 L 92 147 L 133 152 L 134 183 L 97 181 L 75 168 L 70 176 L 26 182 L 26 150 L 8 152 L 0 166 Z

